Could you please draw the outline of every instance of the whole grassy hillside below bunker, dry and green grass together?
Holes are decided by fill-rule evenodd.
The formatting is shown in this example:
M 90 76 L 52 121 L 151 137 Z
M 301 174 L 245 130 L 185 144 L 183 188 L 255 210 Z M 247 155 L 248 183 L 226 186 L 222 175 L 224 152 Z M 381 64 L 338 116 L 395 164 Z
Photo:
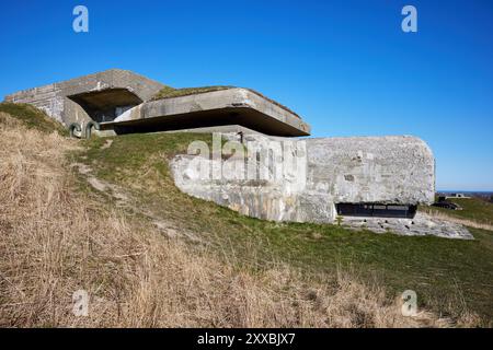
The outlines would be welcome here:
M 0 132 L 3 326 L 491 325 L 489 232 L 452 241 L 242 217 L 173 186 L 168 161 L 197 136 L 76 141 L 3 114 Z M 79 289 L 89 317 L 71 312 Z M 419 317 L 400 314 L 408 289 Z

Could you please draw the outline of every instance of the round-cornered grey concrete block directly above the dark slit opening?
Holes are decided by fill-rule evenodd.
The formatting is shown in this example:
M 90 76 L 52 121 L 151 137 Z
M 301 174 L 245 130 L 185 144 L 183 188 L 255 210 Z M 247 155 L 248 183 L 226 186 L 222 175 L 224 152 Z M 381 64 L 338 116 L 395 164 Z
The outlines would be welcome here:
M 310 190 L 334 202 L 432 203 L 435 159 L 409 136 L 307 140 Z

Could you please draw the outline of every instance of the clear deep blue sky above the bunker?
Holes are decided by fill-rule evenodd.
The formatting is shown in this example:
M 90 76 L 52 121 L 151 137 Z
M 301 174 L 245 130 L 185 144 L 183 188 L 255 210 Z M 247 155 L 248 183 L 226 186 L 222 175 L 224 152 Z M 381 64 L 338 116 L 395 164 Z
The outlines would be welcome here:
M 89 9 L 90 32 L 72 31 Z M 413 4 L 419 32 L 401 31 Z M 414 135 L 438 189 L 493 190 L 493 1 L 5 1 L 0 96 L 108 68 L 231 84 L 313 136 Z

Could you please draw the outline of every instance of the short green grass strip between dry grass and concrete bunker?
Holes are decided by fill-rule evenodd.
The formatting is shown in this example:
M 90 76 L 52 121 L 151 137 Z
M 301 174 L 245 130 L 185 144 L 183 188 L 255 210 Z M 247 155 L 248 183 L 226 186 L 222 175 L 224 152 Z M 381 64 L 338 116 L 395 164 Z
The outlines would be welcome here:
M 263 269 L 280 260 L 322 280 L 343 266 L 382 280 L 395 295 L 415 290 L 422 305 L 444 315 L 458 315 L 467 306 L 488 322 L 493 319 L 491 233 L 471 230 L 477 240 L 468 242 L 242 217 L 174 187 L 167 161 L 197 138 L 210 141 L 206 135 L 128 135 L 101 149 L 105 140 L 93 139 L 77 158 L 98 177 L 133 191 L 139 206 L 199 235 L 230 264 Z

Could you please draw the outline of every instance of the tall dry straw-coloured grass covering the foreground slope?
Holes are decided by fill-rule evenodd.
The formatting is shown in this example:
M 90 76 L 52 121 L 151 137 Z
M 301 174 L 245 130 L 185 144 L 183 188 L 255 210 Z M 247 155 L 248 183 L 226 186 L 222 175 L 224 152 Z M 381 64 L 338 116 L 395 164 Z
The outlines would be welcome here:
M 414 327 L 383 290 L 343 273 L 234 269 L 73 188 L 58 133 L 0 116 L 0 325 Z M 87 290 L 88 317 L 72 314 Z

